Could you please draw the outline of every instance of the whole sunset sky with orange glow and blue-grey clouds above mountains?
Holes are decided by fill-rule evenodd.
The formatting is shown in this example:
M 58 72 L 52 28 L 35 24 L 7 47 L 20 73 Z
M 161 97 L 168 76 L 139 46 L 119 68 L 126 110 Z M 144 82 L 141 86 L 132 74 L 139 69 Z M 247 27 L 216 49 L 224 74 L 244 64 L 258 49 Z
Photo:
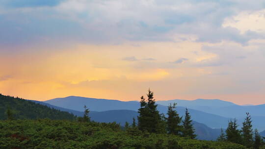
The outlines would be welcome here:
M 0 93 L 265 103 L 264 0 L 0 0 Z

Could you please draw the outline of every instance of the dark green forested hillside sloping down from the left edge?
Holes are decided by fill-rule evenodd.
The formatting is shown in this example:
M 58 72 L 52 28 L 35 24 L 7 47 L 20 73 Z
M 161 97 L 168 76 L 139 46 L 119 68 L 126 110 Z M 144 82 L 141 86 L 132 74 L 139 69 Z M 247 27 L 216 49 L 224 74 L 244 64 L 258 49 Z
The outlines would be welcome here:
M 75 120 L 76 116 L 29 100 L 4 96 L 0 94 L 0 120 L 7 119 L 7 111 L 13 119 Z

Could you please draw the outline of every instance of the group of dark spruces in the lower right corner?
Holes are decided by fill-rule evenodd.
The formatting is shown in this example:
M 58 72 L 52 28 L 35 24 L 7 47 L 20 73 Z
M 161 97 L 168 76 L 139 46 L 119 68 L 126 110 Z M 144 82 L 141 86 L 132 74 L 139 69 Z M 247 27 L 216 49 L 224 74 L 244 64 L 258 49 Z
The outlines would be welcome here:
M 243 126 L 238 129 L 237 120 L 230 120 L 225 130 L 221 129 L 221 135 L 217 138 L 220 142 L 233 142 L 247 147 L 248 149 L 260 149 L 265 145 L 264 137 L 261 137 L 258 130 L 253 131 L 251 116 L 246 113 Z

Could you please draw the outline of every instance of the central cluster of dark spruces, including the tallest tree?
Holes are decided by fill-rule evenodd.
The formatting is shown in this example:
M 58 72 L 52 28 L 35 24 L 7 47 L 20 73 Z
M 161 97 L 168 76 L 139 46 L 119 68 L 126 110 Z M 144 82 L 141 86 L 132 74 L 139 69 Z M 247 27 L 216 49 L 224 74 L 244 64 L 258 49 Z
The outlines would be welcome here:
M 190 139 L 195 139 L 191 116 L 186 108 L 185 118 L 179 116 L 176 111 L 176 103 L 168 106 L 167 117 L 160 114 L 154 99 L 154 93 L 148 90 L 147 99 L 143 96 L 138 109 L 138 125 L 141 131 L 150 133 L 168 133 Z

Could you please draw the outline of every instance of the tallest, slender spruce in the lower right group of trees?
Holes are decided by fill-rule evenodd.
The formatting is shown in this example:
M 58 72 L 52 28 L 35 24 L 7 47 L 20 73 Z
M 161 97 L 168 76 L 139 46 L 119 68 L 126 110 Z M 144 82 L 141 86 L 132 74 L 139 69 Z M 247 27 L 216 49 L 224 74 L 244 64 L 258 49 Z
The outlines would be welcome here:
M 243 145 L 247 148 L 250 148 L 253 146 L 253 129 L 251 124 L 251 117 L 249 113 L 246 113 L 246 118 L 243 122 L 242 127 L 242 139 L 243 139 Z

